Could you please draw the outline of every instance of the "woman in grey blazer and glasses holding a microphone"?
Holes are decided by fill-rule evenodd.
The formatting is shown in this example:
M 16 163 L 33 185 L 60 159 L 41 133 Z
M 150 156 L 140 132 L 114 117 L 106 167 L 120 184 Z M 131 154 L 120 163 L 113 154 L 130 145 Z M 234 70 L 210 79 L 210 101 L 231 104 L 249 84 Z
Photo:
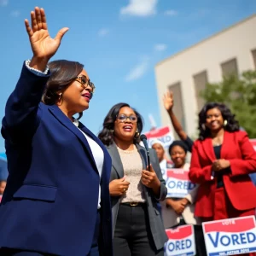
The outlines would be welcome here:
M 113 215 L 113 254 L 164 255 L 167 241 L 158 201 L 166 199 L 159 160 L 139 145 L 142 116 L 130 105 L 118 103 L 104 119 L 98 137 L 112 158 L 109 191 Z

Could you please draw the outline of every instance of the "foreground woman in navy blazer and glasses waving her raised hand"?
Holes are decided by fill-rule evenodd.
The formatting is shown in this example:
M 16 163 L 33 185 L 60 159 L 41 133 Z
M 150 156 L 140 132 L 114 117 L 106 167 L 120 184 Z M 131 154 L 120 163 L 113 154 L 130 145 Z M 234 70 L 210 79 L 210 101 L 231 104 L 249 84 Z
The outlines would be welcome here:
M 9 177 L 0 254 L 113 255 L 111 158 L 74 118 L 89 108 L 95 86 L 79 62 L 49 63 L 68 28 L 50 38 L 44 9 L 36 7 L 31 19 L 25 25 L 32 60 L 25 61 L 3 117 Z

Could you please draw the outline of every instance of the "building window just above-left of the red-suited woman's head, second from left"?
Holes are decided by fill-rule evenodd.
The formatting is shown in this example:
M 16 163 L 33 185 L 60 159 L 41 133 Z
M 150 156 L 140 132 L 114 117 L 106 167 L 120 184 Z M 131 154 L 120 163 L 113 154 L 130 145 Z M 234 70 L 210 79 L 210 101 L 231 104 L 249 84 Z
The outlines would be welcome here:
M 200 111 L 203 108 L 205 101 L 201 98 L 200 93 L 202 90 L 206 89 L 208 83 L 207 71 L 197 73 L 193 76 L 194 86 L 195 86 L 195 96 L 197 102 L 197 109 Z

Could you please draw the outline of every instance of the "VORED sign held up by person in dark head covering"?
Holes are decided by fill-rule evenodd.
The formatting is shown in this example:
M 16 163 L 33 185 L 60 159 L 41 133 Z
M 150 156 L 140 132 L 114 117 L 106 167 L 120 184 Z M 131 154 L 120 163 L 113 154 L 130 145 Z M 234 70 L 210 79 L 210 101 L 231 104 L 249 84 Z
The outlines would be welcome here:
M 189 181 L 189 171 L 183 169 L 167 169 L 166 197 L 183 198 L 195 188 L 195 184 Z

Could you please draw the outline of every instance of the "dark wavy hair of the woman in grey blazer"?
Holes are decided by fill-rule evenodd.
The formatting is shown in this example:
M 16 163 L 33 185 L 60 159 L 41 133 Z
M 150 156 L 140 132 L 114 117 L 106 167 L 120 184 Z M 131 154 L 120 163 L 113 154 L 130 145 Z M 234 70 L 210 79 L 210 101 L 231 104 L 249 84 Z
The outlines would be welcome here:
M 127 103 L 118 103 L 115 104 L 108 112 L 107 116 L 104 119 L 103 122 L 103 129 L 99 132 L 98 138 L 102 141 L 104 145 L 111 145 L 113 143 L 113 126 L 114 121 L 116 120 L 119 111 L 121 108 L 128 107 L 131 108 L 129 104 Z M 137 112 L 136 109 L 131 108 L 134 113 L 137 115 L 137 131 L 141 133 L 143 131 L 143 117 L 140 113 Z M 139 137 L 134 137 L 133 139 L 134 143 L 139 143 L 140 139 Z

